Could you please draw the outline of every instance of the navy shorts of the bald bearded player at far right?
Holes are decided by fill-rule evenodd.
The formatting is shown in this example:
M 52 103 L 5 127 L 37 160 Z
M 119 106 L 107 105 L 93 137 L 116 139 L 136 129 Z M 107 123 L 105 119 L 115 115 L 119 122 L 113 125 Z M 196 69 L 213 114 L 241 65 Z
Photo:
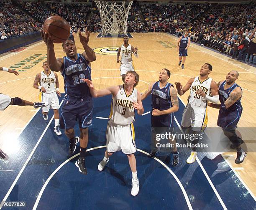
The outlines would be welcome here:
M 236 128 L 238 121 L 241 117 L 242 111 L 242 106 L 237 106 L 236 109 L 233 110 L 220 109 L 217 123 L 218 126 L 222 127 L 224 130 L 227 129 L 228 127 Z

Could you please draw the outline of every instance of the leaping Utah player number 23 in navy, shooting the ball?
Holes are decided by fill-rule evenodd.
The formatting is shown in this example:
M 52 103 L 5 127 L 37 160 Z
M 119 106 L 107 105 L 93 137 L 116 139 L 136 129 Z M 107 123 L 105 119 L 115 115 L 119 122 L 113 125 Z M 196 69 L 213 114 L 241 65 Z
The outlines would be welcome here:
M 64 98 L 64 105 L 61 109 L 60 127 L 65 129 L 69 138 L 69 155 L 71 155 L 80 139 L 80 157 L 76 162 L 79 171 L 87 174 L 85 167 L 85 152 L 88 144 L 88 127 L 92 125 L 92 96 L 85 78 L 91 80 L 90 62 L 96 60 L 92 48 L 88 46 L 90 33 L 85 30 L 85 35 L 79 30 L 80 42 L 84 48 L 82 54 L 77 53 L 73 40 L 66 40 L 63 50 L 67 56 L 64 58 L 55 57 L 54 44 L 51 36 L 41 30 L 42 38 L 47 46 L 47 63 L 52 71 L 60 71 L 64 77 L 64 89 L 67 94 Z M 79 121 L 80 138 L 74 135 L 74 126 Z

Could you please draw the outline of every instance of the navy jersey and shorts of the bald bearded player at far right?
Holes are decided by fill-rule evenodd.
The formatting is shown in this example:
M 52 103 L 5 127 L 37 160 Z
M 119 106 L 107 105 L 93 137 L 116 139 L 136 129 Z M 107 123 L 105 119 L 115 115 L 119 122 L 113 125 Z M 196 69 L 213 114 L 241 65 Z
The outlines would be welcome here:
M 228 109 L 225 109 L 225 101 L 228 99 L 231 92 L 236 87 L 241 88 L 240 86 L 238 86 L 237 83 L 234 83 L 233 86 L 225 90 L 224 89 L 225 83 L 226 82 L 224 81 L 219 88 L 219 99 L 220 99 L 221 105 L 220 105 L 220 111 L 219 111 L 219 117 L 218 117 L 218 126 L 224 129 L 226 129 L 227 127 L 236 127 L 243 111 L 243 107 L 241 105 L 241 98 L 237 100 Z

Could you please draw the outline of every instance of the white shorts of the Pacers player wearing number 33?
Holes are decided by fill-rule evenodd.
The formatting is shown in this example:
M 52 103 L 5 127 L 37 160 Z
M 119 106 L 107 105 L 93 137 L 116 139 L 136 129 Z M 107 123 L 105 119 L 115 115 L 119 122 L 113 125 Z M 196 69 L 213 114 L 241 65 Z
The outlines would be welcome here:
M 182 127 L 191 127 L 195 132 L 203 132 L 207 127 L 207 108 L 187 104 L 182 114 Z

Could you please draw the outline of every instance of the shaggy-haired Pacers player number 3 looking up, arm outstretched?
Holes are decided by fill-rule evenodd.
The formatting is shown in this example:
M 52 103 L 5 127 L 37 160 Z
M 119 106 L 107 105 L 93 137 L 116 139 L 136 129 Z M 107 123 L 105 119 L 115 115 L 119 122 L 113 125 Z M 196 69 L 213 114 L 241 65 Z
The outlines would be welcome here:
M 95 90 L 92 81 L 85 79 L 93 97 L 101 97 L 112 94 L 111 111 L 107 128 L 107 149 L 105 156 L 98 165 L 102 171 L 109 161 L 109 157 L 117 151 L 122 150 L 127 155 L 132 171 L 131 195 L 136 196 L 139 191 L 139 180 L 136 169 L 135 133 L 133 121 L 135 110 L 143 114 L 144 109 L 141 102 L 141 94 L 134 88 L 138 84 L 139 76 L 135 71 L 128 71 L 123 85 L 111 86 L 103 90 Z

